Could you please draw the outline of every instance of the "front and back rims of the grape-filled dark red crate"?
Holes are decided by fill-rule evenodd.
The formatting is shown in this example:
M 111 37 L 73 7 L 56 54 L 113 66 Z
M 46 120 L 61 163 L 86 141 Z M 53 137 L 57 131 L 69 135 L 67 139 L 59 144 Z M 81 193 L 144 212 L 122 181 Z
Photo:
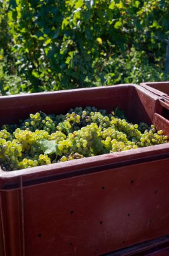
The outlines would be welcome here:
M 59 90 L 59 91 L 54 91 L 54 92 L 40 92 L 40 93 L 32 93 L 32 94 L 16 94 L 16 95 L 10 95 L 10 96 L 0 96 L 0 102 L 1 100 L 5 100 L 5 99 L 17 99 L 17 98 L 21 98 L 21 97 L 30 97 L 30 98 L 34 98 L 36 96 L 41 97 L 41 96 L 48 96 L 50 94 L 71 94 L 72 92 L 83 92 L 83 91 L 91 91 L 91 90 L 104 90 L 105 88 L 110 89 L 111 88 L 121 88 L 121 87 L 126 87 L 126 86 L 131 86 L 133 88 L 135 88 L 136 90 L 140 90 L 144 93 L 146 93 L 148 96 L 150 96 L 151 98 L 154 98 L 154 100 L 163 100 L 162 97 L 155 95 L 154 93 L 150 92 L 149 90 L 147 90 L 146 88 L 139 86 L 137 84 L 118 84 L 118 85 L 112 85 L 112 86 L 101 86 L 101 87 L 93 87 L 93 88 L 80 88 L 80 89 L 72 89 L 72 90 Z M 99 156 L 92 156 L 92 157 L 88 157 L 88 158 L 82 158 L 79 160 L 71 160 L 71 161 L 67 161 L 67 162 L 58 162 L 56 164 L 48 164 L 48 165 L 44 165 L 44 166 L 36 166 L 36 167 L 32 167 L 32 168 L 25 168 L 25 169 L 21 169 L 21 170 L 13 170 L 13 171 L 4 171 L 1 169 L 0 166 L 0 189 L 1 189 L 1 183 L 3 183 L 4 179 L 7 181 L 8 179 L 14 179 L 16 177 L 32 177 L 34 176 L 35 179 L 37 176 L 40 176 L 42 173 L 43 174 L 50 174 L 50 170 L 51 167 L 52 168 L 52 172 L 54 174 L 60 172 L 60 169 L 63 168 L 68 168 L 69 166 L 72 167 L 77 167 L 80 170 L 80 167 L 84 164 L 87 164 L 87 166 L 91 164 L 93 164 L 93 166 L 98 166 L 98 164 L 102 161 L 103 162 L 103 166 L 104 164 L 107 164 L 108 162 L 120 162 L 121 159 L 123 159 L 123 161 L 127 161 L 129 160 L 131 154 L 132 156 L 138 156 L 138 158 L 144 158 L 144 154 L 148 154 L 149 151 L 152 151 L 152 155 L 156 155 L 156 152 L 160 151 L 164 151 L 164 152 L 169 152 L 168 150 L 169 148 L 169 144 L 168 143 L 163 143 L 160 145 L 156 145 L 156 146 L 148 146 L 148 147 L 144 147 L 144 148 L 137 148 L 135 150 L 127 150 L 127 151 L 123 151 L 123 152 L 115 152 L 115 153 L 110 153 L 110 154 L 102 154 Z M 147 157 L 147 156 L 146 156 Z M 105 161 L 106 160 L 106 161 Z

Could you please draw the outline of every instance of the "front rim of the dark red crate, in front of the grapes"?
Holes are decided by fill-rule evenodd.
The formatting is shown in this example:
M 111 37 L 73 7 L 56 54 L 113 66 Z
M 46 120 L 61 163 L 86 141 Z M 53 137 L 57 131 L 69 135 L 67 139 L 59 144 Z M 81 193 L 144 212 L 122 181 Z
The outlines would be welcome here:
M 80 169 L 82 168 L 95 168 L 97 166 L 106 166 L 107 164 L 120 164 L 121 162 L 125 164 L 125 162 L 134 162 L 135 160 L 143 161 L 145 159 L 151 159 L 152 157 L 155 157 L 156 160 L 158 160 L 158 156 L 159 159 L 162 156 L 164 156 L 164 158 L 169 158 L 169 143 L 163 143 L 144 148 L 137 148 L 133 150 L 126 150 L 122 152 L 102 154 L 99 156 L 91 156 L 88 158 L 81 158 L 66 162 L 46 164 L 43 166 L 36 166 L 21 170 L 4 171 L 0 167 L 0 189 L 2 186 L 1 183 L 5 183 L 10 179 L 15 179 L 19 177 L 22 177 L 22 179 L 25 180 L 36 179 L 39 177 L 48 177 L 48 174 L 52 176 L 56 174 L 70 172 L 69 168 L 75 168 L 76 170 L 80 171 Z

